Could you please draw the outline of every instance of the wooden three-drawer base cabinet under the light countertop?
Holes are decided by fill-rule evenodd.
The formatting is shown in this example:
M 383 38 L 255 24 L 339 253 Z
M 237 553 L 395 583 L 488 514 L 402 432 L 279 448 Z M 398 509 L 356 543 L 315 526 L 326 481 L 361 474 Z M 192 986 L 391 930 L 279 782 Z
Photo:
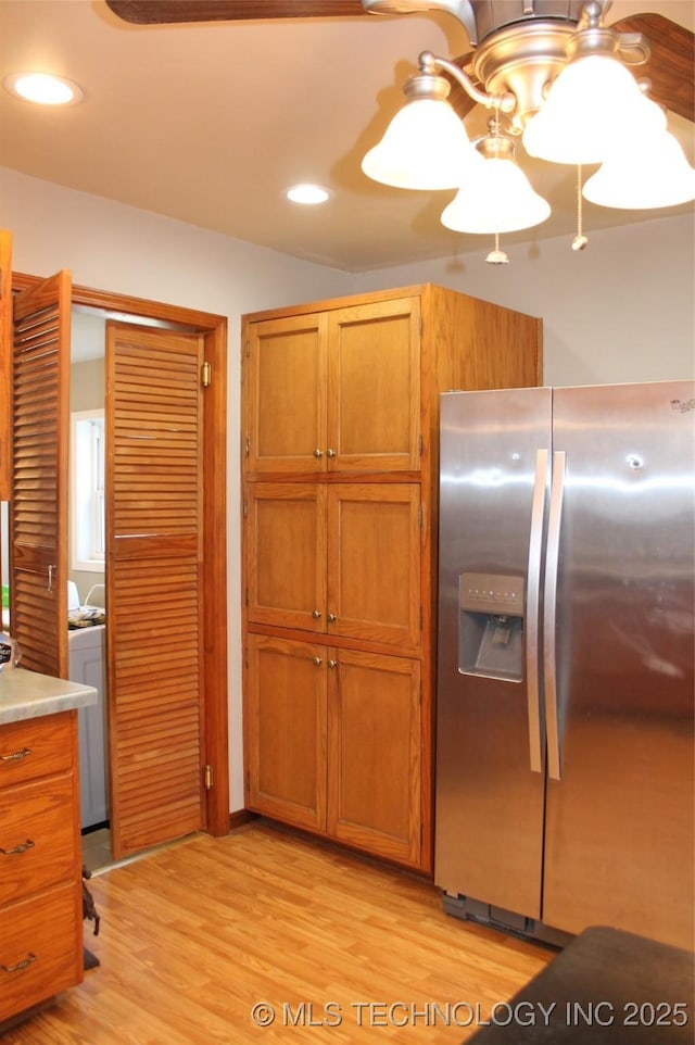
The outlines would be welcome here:
M 77 713 L 0 726 L 0 1023 L 83 979 Z

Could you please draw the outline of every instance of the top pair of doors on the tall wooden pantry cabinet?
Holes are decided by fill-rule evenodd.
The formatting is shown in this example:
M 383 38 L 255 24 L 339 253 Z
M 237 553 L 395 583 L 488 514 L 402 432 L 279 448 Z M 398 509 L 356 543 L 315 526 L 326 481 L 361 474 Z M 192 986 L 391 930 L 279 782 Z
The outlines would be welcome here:
M 250 324 L 249 469 L 418 469 L 419 330 L 418 297 Z

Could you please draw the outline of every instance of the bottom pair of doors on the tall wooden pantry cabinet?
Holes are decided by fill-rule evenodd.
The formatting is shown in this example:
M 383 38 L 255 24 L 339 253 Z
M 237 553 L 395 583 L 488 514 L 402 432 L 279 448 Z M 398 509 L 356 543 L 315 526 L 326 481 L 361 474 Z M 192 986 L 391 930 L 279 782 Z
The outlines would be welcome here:
M 247 657 L 253 808 L 417 865 L 419 662 L 254 633 Z

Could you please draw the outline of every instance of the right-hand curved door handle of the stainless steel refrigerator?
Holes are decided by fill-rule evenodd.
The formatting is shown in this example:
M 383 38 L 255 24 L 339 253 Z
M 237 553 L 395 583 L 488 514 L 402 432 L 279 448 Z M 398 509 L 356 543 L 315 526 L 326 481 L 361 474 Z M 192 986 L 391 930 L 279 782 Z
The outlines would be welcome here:
M 547 775 L 551 780 L 560 779 L 560 741 L 557 714 L 557 671 L 555 642 L 557 620 L 557 568 L 560 550 L 563 495 L 565 492 L 565 451 L 556 451 L 553 454 L 551 509 L 547 519 L 545 601 L 543 618 L 543 660 L 545 664 L 545 729 L 547 733 Z

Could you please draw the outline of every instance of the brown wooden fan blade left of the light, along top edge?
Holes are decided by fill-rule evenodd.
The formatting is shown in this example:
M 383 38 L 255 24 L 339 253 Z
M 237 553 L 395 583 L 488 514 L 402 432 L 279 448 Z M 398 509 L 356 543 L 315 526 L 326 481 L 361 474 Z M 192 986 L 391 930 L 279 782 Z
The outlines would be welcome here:
M 106 7 L 135 25 L 339 18 L 365 13 L 362 0 L 106 0 Z

